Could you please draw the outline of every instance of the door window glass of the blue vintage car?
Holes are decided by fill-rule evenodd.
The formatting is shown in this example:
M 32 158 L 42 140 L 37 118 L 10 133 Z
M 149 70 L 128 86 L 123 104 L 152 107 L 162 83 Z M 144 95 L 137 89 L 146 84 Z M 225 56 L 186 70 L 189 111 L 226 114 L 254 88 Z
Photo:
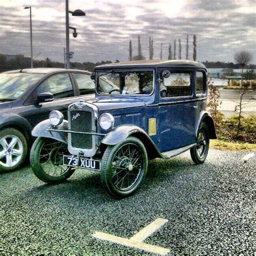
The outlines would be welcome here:
M 191 76 L 190 72 L 171 71 L 171 75 L 160 84 L 161 97 L 191 96 Z

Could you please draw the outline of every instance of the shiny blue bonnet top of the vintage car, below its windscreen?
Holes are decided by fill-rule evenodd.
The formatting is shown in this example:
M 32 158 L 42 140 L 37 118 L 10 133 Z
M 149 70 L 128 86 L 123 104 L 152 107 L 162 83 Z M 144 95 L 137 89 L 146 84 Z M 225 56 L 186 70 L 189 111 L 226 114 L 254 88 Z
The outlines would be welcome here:
M 111 98 L 111 99 L 100 98 L 100 99 L 94 100 L 91 103 L 96 105 L 99 111 L 145 106 L 144 100 L 134 99 L 134 98 L 118 98 L 118 97 Z

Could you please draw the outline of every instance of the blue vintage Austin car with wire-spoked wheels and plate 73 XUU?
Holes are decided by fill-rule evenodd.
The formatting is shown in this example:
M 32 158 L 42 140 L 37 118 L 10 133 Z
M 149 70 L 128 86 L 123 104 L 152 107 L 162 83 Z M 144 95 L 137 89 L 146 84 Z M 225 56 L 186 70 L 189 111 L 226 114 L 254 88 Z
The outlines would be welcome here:
M 113 196 L 130 196 L 142 183 L 147 161 L 190 150 L 204 163 L 216 137 L 206 111 L 207 74 L 190 60 L 138 60 L 97 66 L 96 99 L 59 111 L 32 131 L 38 137 L 30 160 L 46 183 L 58 183 L 77 169 L 100 172 Z M 107 82 L 107 83 L 106 83 Z

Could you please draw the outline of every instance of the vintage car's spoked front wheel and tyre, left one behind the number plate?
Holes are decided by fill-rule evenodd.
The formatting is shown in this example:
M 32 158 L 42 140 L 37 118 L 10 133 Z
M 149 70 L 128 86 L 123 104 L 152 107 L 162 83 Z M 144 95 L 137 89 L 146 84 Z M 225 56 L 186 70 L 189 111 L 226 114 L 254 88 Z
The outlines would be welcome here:
M 30 164 L 33 173 L 38 179 L 49 184 L 60 183 L 68 179 L 75 170 L 62 164 L 62 156 L 67 153 L 67 146 L 62 142 L 38 137 L 30 151 Z M 51 174 L 51 171 L 56 172 L 56 175 Z

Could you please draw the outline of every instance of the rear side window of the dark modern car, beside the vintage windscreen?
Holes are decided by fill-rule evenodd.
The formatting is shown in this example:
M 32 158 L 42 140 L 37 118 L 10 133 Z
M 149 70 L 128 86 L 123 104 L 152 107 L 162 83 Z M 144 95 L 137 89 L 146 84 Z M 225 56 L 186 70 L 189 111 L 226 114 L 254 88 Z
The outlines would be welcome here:
M 90 75 L 83 73 L 73 73 L 73 75 L 77 80 L 80 95 L 86 95 L 88 93 L 95 92 L 95 83 L 91 79 Z

